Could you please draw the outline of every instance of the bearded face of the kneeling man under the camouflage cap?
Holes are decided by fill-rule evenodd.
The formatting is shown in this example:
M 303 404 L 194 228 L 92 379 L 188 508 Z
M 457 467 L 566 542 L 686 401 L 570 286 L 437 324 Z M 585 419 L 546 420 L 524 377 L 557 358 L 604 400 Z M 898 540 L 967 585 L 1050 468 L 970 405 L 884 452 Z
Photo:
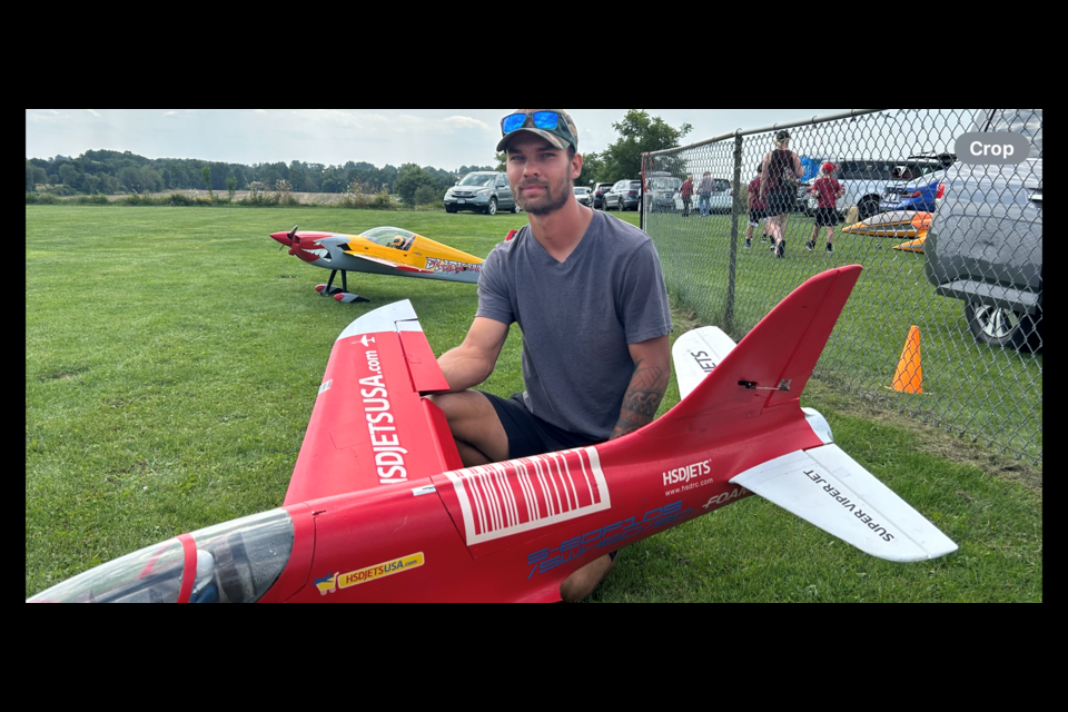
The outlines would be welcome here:
M 508 144 L 508 182 L 520 207 L 531 215 L 548 215 L 574 200 L 582 156 L 567 157 L 542 137 L 523 132 Z

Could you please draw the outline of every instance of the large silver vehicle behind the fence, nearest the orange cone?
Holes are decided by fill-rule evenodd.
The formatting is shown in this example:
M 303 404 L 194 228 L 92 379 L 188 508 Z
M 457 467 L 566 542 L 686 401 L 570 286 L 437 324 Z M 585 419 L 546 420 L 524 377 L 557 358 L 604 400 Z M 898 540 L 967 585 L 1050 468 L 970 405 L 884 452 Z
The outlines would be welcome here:
M 971 132 L 1026 136 L 1017 166 L 958 162 L 927 236 L 927 278 L 961 299 L 976 340 L 1042 348 L 1042 110 L 982 109 Z

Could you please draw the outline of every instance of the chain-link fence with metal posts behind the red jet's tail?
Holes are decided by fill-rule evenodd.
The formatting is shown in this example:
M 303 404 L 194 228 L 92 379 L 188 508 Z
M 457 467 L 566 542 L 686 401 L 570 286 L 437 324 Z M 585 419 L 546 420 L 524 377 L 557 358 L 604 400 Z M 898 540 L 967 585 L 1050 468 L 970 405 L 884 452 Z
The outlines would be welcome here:
M 973 132 L 1029 155 L 966 162 Z M 735 339 L 862 265 L 814 377 L 1041 467 L 1041 109 L 857 109 L 646 154 L 642 221 L 669 291 Z

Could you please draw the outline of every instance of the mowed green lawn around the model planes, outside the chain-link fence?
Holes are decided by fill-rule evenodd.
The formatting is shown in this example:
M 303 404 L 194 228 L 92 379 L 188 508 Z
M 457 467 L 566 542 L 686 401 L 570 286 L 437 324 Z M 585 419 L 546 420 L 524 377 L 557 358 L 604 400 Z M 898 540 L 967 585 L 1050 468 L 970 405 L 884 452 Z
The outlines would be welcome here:
M 613 214 L 619 215 L 619 214 Z M 636 214 L 623 214 L 636 222 Z M 278 506 L 334 339 L 411 299 L 436 354 L 473 285 L 352 275 L 370 304 L 313 290 L 279 251 L 294 225 L 395 225 L 485 256 L 525 215 L 29 206 L 26 209 L 26 595 L 182 532 Z M 678 336 L 684 325 L 676 324 Z M 693 325 L 690 325 L 693 326 Z M 516 327 L 485 388 L 522 389 Z M 672 382 L 662 412 L 678 402 Z M 1042 600 L 1040 485 L 947 455 L 921 426 L 810 387 L 837 442 L 959 545 L 898 565 L 751 497 L 623 551 L 594 602 Z

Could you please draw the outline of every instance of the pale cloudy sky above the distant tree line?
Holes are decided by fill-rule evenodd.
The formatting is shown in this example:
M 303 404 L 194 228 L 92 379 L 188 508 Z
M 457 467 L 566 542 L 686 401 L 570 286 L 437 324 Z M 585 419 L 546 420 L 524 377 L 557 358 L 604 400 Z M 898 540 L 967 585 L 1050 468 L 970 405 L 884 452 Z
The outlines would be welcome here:
M 646 109 L 678 128 L 684 142 L 738 128 L 848 109 Z M 447 170 L 491 165 L 501 117 L 513 109 L 26 109 L 26 157 L 79 156 L 90 149 L 148 158 L 235 164 L 293 160 L 382 167 L 414 162 Z M 568 109 L 582 152 L 617 139 L 627 109 Z

